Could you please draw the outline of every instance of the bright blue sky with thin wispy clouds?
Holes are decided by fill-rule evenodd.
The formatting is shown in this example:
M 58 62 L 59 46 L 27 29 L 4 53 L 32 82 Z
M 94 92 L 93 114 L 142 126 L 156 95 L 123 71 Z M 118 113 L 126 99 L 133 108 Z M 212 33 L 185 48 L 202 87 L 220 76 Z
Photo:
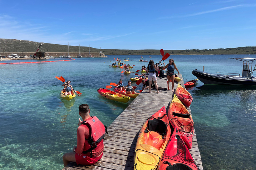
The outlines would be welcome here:
M 0 9 L 4 39 L 103 49 L 256 46 L 255 0 L 0 0 Z

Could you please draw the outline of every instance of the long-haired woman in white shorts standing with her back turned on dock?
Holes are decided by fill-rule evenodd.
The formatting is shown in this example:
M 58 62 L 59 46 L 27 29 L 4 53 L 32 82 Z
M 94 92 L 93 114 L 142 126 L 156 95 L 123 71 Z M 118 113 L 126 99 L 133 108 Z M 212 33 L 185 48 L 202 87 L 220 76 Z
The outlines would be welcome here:
M 154 63 L 153 60 L 150 60 L 149 63 L 148 63 L 148 66 L 147 66 L 147 73 L 149 73 L 148 75 L 148 80 L 149 80 L 149 92 L 148 93 L 151 93 L 151 80 L 154 81 L 155 83 L 155 89 L 157 90 L 156 93 L 159 93 L 158 91 L 158 85 L 156 83 L 156 72 L 155 71 L 158 71 L 158 65 Z

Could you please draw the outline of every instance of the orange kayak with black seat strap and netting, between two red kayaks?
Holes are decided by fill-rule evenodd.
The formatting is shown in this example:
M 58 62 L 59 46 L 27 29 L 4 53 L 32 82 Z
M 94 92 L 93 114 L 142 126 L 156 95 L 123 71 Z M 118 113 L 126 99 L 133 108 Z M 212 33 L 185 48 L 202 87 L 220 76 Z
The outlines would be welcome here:
M 176 94 L 174 94 L 169 106 L 168 119 L 172 127 L 174 129 L 177 128 L 173 133 L 181 134 L 181 138 L 185 142 L 186 146 L 188 149 L 191 149 L 194 135 L 194 122 L 190 113 L 180 102 Z

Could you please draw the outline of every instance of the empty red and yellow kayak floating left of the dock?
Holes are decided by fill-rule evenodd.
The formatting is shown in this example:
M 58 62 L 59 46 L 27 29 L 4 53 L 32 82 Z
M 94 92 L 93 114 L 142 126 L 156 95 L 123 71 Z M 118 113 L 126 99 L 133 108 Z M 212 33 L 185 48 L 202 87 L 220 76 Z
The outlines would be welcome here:
M 125 96 L 125 95 L 122 95 L 122 94 L 119 94 L 119 93 L 116 93 L 116 92 L 113 92 L 111 90 L 104 89 L 104 88 L 100 88 L 97 91 L 102 97 L 104 97 L 106 99 L 114 100 L 117 102 L 126 103 L 130 99 L 129 96 Z

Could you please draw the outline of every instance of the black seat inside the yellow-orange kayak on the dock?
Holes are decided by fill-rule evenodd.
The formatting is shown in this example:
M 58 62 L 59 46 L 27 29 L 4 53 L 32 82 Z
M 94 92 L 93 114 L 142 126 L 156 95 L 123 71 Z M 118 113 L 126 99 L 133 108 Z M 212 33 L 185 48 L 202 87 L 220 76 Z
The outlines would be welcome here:
M 150 131 L 158 132 L 160 135 L 164 137 L 166 134 L 167 125 L 164 123 L 164 121 L 160 119 L 153 119 L 148 121 L 148 127 L 145 129 L 145 133 L 148 133 Z

